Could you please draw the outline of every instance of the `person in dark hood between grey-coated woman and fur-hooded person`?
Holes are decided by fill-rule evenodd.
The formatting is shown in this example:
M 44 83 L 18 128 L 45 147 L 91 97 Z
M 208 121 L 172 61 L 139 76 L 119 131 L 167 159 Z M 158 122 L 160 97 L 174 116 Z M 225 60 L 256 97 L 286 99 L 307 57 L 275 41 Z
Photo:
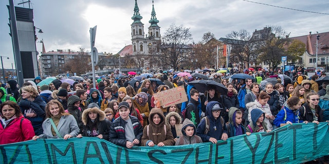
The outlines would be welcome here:
M 65 112 L 74 116 L 74 118 L 77 121 L 80 132 L 81 132 L 83 122 L 82 122 L 82 112 L 81 112 L 81 109 L 79 109 L 80 103 L 81 103 L 81 99 L 77 95 L 71 95 L 67 99 L 67 110 L 65 110 Z

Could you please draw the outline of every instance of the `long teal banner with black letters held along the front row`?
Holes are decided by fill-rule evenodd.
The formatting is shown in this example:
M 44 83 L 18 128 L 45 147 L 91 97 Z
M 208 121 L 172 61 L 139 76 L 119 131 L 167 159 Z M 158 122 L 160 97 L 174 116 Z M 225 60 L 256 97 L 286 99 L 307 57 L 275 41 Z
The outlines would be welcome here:
M 3 163 L 302 163 L 329 155 L 328 124 L 294 124 L 184 146 L 126 149 L 96 137 L 38 139 L 1 145 Z

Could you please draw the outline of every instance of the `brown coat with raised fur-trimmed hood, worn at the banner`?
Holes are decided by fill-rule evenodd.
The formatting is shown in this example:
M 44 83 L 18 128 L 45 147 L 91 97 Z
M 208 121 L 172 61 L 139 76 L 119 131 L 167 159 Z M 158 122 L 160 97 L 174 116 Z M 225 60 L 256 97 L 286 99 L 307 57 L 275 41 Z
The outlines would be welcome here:
M 153 122 L 153 116 L 158 114 L 161 121 L 158 125 Z M 153 108 L 150 112 L 149 116 L 150 124 L 144 127 L 143 136 L 142 136 L 142 146 L 148 146 L 150 141 L 153 141 L 154 145 L 158 145 L 159 142 L 165 144 L 165 146 L 174 145 L 174 137 L 171 133 L 170 126 L 166 126 L 165 124 L 165 115 L 160 108 Z

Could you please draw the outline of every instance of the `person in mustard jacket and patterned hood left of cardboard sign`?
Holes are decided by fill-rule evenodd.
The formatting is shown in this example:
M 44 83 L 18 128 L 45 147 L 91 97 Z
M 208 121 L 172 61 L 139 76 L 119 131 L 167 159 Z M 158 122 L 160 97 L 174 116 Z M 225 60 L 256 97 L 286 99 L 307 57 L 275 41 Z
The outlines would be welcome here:
M 143 127 L 148 125 L 148 118 L 150 115 L 148 95 L 145 92 L 136 94 L 133 99 L 134 107 L 139 110 L 139 113 L 143 117 Z

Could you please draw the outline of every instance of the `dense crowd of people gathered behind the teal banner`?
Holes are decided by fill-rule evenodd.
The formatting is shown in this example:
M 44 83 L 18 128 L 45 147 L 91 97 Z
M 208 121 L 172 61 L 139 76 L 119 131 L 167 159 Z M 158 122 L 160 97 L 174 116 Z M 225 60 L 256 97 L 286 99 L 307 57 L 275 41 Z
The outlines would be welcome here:
M 227 93 L 208 86 L 200 93 L 189 82 L 195 76 L 161 72 L 157 80 L 133 75 L 116 79 L 107 75 L 70 85 L 54 79 L 37 86 L 42 79 L 15 80 L 0 88 L 0 144 L 38 138 L 98 137 L 118 146 L 173 146 L 227 140 L 237 135 L 271 132 L 285 124 L 328 121 L 329 85 L 318 85 L 315 74 L 289 72 L 293 83 L 282 80 L 282 72 L 258 70 L 252 78 L 227 79 L 204 72 L 223 84 Z M 325 75 L 320 74 L 320 76 Z M 266 78 L 276 77 L 277 84 Z M 133 81 L 133 83 L 132 83 Z M 154 94 L 183 86 L 188 101 L 163 108 Z M 74 93 L 69 95 L 68 93 Z

